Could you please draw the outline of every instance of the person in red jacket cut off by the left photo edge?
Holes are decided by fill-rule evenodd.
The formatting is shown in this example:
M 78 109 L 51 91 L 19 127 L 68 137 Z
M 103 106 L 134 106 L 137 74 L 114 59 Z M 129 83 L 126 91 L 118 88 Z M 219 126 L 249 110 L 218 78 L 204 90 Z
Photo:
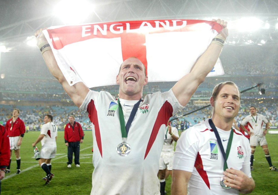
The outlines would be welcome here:
M 1 179 L 5 177 L 6 167 L 10 162 L 10 140 L 8 133 L 3 125 L 0 125 L 0 194 Z

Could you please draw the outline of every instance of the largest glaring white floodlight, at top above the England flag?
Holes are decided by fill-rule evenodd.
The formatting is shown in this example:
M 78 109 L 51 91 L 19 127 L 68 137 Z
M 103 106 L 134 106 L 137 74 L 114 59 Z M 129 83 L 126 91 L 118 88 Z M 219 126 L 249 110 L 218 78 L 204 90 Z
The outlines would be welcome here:
M 65 24 L 78 24 L 82 23 L 92 12 L 94 12 L 92 3 L 85 0 L 67 0 L 58 3 L 53 14 Z

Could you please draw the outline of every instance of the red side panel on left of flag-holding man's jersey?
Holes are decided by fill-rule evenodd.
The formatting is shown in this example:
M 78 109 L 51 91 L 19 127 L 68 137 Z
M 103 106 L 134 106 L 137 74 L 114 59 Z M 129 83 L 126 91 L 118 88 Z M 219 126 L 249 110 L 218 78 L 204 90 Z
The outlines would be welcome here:
M 99 153 L 102 157 L 102 145 L 101 145 L 99 124 L 98 124 L 98 112 L 96 111 L 94 100 L 91 100 L 91 102 L 88 104 L 87 112 L 88 113 L 94 113 L 93 116 L 91 116 L 90 114 L 88 114 L 88 116 L 89 116 L 89 119 L 91 120 L 91 122 L 94 124 L 95 135 L 96 135 L 96 143 L 98 145 Z

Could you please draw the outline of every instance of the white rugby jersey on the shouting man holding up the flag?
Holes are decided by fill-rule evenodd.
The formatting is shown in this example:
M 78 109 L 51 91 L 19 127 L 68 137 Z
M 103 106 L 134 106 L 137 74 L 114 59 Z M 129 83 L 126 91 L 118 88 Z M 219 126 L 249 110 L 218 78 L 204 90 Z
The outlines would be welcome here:
M 92 122 L 91 194 L 160 194 L 157 173 L 166 124 L 182 108 L 172 90 L 145 96 L 127 135 L 131 151 L 120 156 L 116 151 L 122 142 L 117 100 L 108 92 L 89 91 L 80 109 L 88 112 Z

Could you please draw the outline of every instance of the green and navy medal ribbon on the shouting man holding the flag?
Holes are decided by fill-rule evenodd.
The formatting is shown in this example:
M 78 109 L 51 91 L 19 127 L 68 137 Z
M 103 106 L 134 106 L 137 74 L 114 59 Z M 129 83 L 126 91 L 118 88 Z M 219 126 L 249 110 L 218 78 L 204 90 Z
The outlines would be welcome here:
M 138 110 L 139 104 L 142 101 L 142 98 L 133 106 L 133 109 L 130 113 L 130 116 L 127 120 L 127 125 L 125 126 L 125 118 L 124 113 L 122 112 L 122 106 L 120 104 L 120 98 L 118 98 L 118 105 L 119 105 L 119 116 L 120 116 L 120 125 L 121 125 L 121 132 L 122 132 L 122 138 L 127 138 L 127 134 L 129 131 L 129 127 L 135 117 L 135 114 Z

